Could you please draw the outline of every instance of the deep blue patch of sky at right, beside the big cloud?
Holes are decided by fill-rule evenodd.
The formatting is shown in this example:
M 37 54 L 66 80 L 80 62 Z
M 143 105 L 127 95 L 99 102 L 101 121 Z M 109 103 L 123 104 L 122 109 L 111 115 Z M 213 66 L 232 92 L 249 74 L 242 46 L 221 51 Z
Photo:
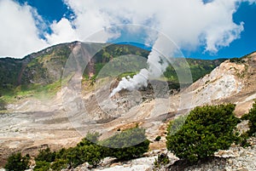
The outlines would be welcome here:
M 183 50 L 183 54 L 189 57 L 212 59 L 212 58 L 233 58 L 241 57 L 256 51 L 256 4 L 241 3 L 236 14 L 233 15 L 234 21 L 243 21 L 244 31 L 240 38 L 230 43 L 228 47 L 220 48 L 217 54 L 204 53 L 203 47 L 195 52 Z

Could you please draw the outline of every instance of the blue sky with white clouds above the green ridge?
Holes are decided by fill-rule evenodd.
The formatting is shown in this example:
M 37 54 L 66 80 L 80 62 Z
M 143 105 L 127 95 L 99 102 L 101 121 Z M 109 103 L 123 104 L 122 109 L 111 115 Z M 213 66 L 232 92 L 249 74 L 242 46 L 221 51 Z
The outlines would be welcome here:
M 256 0 L 0 0 L 0 57 L 77 40 L 154 47 L 160 34 L 188 58 L 241 57 L 255 16 Z

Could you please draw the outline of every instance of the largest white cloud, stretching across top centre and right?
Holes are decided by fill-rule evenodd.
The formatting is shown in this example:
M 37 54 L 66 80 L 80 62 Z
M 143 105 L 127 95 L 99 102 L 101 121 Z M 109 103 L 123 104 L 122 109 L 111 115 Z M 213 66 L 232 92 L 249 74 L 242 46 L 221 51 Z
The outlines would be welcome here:
M 108 3 L 102 0 L 66 0 L 77 18 L 80 38 L 108 26 L 132 23 L 151 26 L 170 37 L 181 48 L 196 48 L 205 44 L 205 49 L 217 52 L 240 37 L 243 23 L 236 24 L 232 15 L 237 3 L 245 0 L 131 0 Z M 248 0 L 254 3 L 254 0 Z M 149 21 L 149 22 L 148 22 Z M 111 36 L 109 36 L 111 37 Z

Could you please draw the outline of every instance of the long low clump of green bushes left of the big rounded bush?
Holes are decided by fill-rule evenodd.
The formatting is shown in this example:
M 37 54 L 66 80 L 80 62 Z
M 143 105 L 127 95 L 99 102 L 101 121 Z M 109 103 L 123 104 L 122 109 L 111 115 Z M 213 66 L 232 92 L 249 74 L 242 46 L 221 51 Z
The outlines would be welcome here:
M 75 147 L 62 148 L 57 152 L 51 152 L 49 148 L 40 151 L 38 157 L 36 157 L 36 170 L 76 168 L 84 162 L 89 162 L 90 165 L 95 167 L 104 157 L 129 160 L 134 157 L 140 157 L 144 152 L 148 151 L 149 141 L 146 139 L 143 128 L 127 129 L 102 141 L 98 140 L 99 136 L 100 134 L 98 133 L 87 134 Z

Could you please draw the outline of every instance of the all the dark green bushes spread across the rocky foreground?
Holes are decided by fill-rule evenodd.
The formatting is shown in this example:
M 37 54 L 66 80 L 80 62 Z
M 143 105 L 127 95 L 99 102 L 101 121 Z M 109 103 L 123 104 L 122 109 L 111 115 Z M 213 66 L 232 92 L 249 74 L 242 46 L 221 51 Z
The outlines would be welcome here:
M 208 157 L 218 150 L 227 150 L 243 135 L 236 133 L 240 119 L 234 116 L 236 105 L 205 105 L 195 107 L 189 115 L 178 117 L 170 122 L 166 137 L 166 147 L 182 161 L 189 164 L 207 161 Z M 252 109 L 241 119 L 249 120 L 249 136 L 255 134 L 255 109 Z M 75 147 L 50 151 L 49 148 L 39 151 L 35 157 L 35 171 L 61 170 L 75 168 L 84 162 L 96 167 L 104 157 L 116 157 L 117 160 L 130 160 L 142 157 L 148 151 L 149 141 L 143 128 L 129 128 L 115 134 L 106 140 L 98 140 L 100 134 L 87 134 Z M 247 138 L 249 138 L 247 136 Z M 138 142 L 138 140 L 140 142 Z M 131 145 L 137 144 L 137 145 Z M 118 148 L 115 148 L 118 147 Z M 28 167 L 29 156 L 22 157 L 20 153 L 9 157 L 5 168 L 24 170 Z M 159 156 L 154 162 L 155 167 L 168 163 L 168 157 Z M 21 167 L 21 168 L 20 168 Z

